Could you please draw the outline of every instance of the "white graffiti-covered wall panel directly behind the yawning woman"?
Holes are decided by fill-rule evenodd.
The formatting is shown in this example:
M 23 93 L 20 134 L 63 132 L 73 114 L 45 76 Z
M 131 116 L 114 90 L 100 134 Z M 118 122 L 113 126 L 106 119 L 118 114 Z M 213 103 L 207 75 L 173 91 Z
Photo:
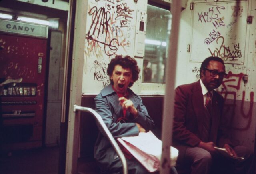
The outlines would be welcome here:
M 147 0 L 90 0 L 86 24 L 82 92 L 98 94 L 110 84 L 108 63 L 116 54 L 134 57 L 137 10 L 146 12 Z M 143 41 L 144 42 L 144 41 Z M 142 61 L 138 60 L 141 64 Z M 133 88 L 138 91 L 138 83 Z

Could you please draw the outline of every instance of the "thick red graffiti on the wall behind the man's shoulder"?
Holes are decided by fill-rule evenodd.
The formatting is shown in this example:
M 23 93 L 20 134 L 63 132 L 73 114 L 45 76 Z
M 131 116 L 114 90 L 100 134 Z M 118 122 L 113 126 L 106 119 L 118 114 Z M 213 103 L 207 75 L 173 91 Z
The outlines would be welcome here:
M 253 109 L 253 102 L 254 102 L 254 92 L 250 92 L 250 102 L 249 107 L 245 107 L 245 91 L 242 91 L 242 100 L 240 102 L 240 113 L 236 112 L 236 108 L 238 108 L 238 100 L 236 100 L 236 97 L 238 95 L 238 90 L 240 90 L 241 81 L 244 74 L 233 74 L 231 71 L 228 72 L 228 75 L 226 76 L 226 79 L 222 82 L 222 91 L 220 94 L 224 96 L 224 111 L 223 115 L 225 116 L 225 122 L 228 125 L 229 128 L 233 130 L 248 130 L 250 128 L 251 120 L 252 120 L 252 109 Z M 235 89 L 232 91 L 232 89 Z M 240 92 L 239 92 L 240 94 Z M 231 98 L 231 100 L 227 100 L 228 98 Z M 246 113 L 246 109 L 248 108 L 248 111 Z M 245 122 L 243 124 L 239 124 L 240 126 L 234 125 L 234 122 L 238 120 L 241 121 L 241 119 Z

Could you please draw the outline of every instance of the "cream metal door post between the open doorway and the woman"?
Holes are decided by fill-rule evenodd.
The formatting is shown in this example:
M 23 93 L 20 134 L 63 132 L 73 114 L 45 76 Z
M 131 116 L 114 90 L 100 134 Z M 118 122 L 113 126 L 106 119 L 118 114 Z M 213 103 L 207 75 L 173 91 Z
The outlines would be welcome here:
M 86 14 L 88 0 L 71 0 L 75 11 L 74 38 L 72 41 L 72 66 L 70 79 L 70 98 L 68 109 L 68 131 L 66 147 L 66 174 L 77 174 L 80 113 L 73 112 L 74 105 L 81 105 L 82 78 L 84 65 L 84 42 L 86 36 Z M 71 47 L 71 45 L 70 45 Z M 75 116 L 76 115 L 76 116 Z

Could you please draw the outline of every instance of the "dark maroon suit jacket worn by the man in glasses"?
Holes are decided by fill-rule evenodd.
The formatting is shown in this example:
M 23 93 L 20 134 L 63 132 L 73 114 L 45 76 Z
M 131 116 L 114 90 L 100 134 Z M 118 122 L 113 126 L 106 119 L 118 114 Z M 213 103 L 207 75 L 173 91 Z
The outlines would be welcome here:
M 232 145 L 223 134 L 222 125 L 220 125 L 223 104 L 223 97 L 213 91 L 209 142 L 214 142 L 219 147 L 223 147 L 226 143 Z M 188 146 L 195 147 L 202 141 L 204 117 L 204 99 L 200 80 L 178 86 L 175 90 L 173 146 L 179 150 L 180 160 L 183 159 Z

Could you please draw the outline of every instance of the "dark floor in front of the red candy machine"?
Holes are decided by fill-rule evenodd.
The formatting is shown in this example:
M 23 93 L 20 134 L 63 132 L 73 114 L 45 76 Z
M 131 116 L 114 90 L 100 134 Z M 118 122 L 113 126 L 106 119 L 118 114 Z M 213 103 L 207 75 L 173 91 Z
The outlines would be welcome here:
M 4 153 L 0 174 L 58 174 L 58 161 L 58 147 Z

